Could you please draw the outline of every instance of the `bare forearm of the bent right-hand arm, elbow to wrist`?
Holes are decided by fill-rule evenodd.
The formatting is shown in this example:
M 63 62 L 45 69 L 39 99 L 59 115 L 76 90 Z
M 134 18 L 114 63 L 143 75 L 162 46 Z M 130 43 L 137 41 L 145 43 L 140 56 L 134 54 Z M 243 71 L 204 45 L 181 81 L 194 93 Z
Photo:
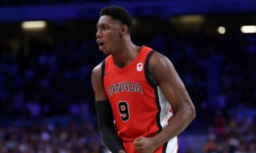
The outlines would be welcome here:
M 156 148 L 162 146 L 165 142 L 169 141 L 173 137 L 179 135 L 186 129 L 186 127 L 192 122 L 195 118 L 195 109 L 188 108 L 183 109 L 183 111 L 177 111 L 175 116 L 169 124 L 162 129 L 160 133 L 152 137 L 152 140 L 156 144 Z

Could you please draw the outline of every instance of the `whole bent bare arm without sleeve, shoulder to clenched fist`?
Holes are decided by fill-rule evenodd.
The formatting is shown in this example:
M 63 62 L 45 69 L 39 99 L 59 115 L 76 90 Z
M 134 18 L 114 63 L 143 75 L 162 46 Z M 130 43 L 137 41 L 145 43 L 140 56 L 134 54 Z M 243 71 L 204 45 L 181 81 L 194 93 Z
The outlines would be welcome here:
M 195 107 L 186 91 L 186 88 L 175 71 L 169 59 L 158 52 L 154 52 L 149 61 L 150 74 L 158 82 L 163 94 L 175 111 L 169 124 L 152 139 L 139 138 L 134 141 L 134 148 L 138 152 L 154 152 L 169 139 L 179 135 L 195 118 Z M 142 140 L 142 141 L 141 141 Z M 142 143 L 138 143 L 142 142 Z M 145 151 L 143 145 L 151 146 Z

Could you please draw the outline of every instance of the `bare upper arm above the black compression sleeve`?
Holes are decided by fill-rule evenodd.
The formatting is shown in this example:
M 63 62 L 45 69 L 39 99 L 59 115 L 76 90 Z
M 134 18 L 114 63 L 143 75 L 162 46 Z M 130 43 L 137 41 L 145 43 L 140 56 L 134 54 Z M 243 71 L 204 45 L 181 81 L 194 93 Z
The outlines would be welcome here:
M 102 84 L 102 74 L 101 74 L 101 64 L 94 68 L 91 73 L 91 84 L 94 88 L 95 100 L 96 101 L 104 101 L 108 98 L 104 92 L 104 87 Z

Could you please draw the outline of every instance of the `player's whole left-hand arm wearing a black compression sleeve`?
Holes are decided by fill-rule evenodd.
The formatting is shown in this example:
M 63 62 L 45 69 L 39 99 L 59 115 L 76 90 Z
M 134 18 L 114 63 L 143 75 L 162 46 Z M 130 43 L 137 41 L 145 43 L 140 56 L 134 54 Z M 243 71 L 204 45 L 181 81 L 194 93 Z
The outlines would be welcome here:
M 94 68 L 91 75 L 91 83 L 96 95 L 96 114 L 100 137 L 111 152 L 125 153 L 122 141 L 119 139 L 113 125 L 113 112 L 102 85 L 101 69 L 100 64 Z

